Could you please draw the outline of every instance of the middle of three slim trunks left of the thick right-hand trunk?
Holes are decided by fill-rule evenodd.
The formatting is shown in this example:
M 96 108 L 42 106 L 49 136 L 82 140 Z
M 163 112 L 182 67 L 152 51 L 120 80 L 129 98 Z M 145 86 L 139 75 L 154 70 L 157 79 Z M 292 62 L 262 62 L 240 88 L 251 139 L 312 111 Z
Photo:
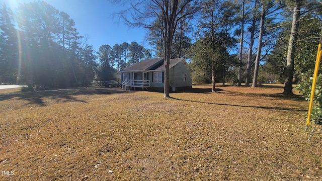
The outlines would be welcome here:
M 255 1 L 255 8 L 257 5 L 257 1 Z M 247 67 L 246 67 L 246 86 L 250 86 L 251 82 L 251 68 L 252 68 L 252 60 L 253 60 L 253 45 L 254 45 L 254 35 L 255 35 L 255 27 L 256 27 L 256 15 L 254 12 L 253 15 L 253 24 L 251 29 L 251 39 L 250 39 L 250 48 L 248 51 L 248 60 L 247 60 Z

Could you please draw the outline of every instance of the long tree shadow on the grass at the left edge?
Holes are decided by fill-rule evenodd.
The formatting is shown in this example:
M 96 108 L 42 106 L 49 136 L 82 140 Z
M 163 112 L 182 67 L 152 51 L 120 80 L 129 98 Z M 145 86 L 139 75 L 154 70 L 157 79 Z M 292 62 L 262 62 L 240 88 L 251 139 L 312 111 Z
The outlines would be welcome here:
M 26 92 L 26 93 L 14 93 L 14 94 L 3 94 L 0 95 L 0 101 L 10 100 L 13 98 L 18 98 L 18 100 L 26 100 L 28 104 L 37 104 L 40 106 L 46 106 L 44 99 L 53 99 L 58 102 L 82 102 L 86 103 L 84 100 L 79 100 L 74 96 L 78 95 L 111 95 L 111 94 L 121 94 L 130 93 L 123 91 L 121 89 L 107 89 L 107 88 L 67 88 L 67 89 L 56 89 L 50 91 L 37 91 L 37 92 Z

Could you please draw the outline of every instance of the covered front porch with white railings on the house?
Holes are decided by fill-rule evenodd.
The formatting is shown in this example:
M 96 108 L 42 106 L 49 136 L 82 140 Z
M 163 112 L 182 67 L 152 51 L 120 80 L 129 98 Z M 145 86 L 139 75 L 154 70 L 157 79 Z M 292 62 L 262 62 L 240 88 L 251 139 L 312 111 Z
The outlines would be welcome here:
M 122 73 L 122 89 L 135 89 L 150 87 L 148 72 L 123 72 Z

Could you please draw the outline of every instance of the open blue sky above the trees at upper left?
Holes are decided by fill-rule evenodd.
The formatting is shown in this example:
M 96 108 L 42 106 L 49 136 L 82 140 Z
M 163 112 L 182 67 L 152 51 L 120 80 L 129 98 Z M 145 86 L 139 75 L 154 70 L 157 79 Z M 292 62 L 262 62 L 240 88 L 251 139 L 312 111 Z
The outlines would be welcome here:
M 44 0 L 57 10 L 67 13 L 75 21 L 75 28 L 79 35 L 88 36 L 87 43 L 98 51 L 103 44 L 113 47 L 116 43 L 131 43 L 136 41 L 149 48 L 145 41 L 146 30 L 129 28 L 119 20 L 114 13 L 125 7 L 114 5 L 108 0 Z M 19 3 L 34 2 L 34 0 L 0 0 L 1 5 L 6 3 L 13 11 Z

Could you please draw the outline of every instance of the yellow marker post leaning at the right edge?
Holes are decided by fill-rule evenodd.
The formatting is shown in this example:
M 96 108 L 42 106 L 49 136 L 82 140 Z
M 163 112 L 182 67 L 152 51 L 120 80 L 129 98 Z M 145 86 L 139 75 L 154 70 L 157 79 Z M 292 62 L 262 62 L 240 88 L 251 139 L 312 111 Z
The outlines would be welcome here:
M 311 112 L 312 112 L 312 107 L 313 107 L 313 98 L 314 98 L 314 92 L 315 92 L 317 71 L 318 71 L 318 67 L 319 67 L 320 59 L 321 59 L 321 55 L 322 55 L 321 44 L 322 44 L 322 29 L 321 29 L 320 40 L 319 40 L 319 43 L 318 43 L 318 48 L 317 48 L 317 54 L 316 54 L 316 60 L 315 60 L 315 68 L 314 68 L 314 74 L 313 74 L 313 82 L 312 82 L 312 90 L 311 90 L 311 97 L 310 97 L 310 103 L 309 103 L 309 106 L 308 106 L 306 127 L 305 127 L 304 131 L 306 131 L 307 128 L 310 126 L 310 119 L 311 119 Z

